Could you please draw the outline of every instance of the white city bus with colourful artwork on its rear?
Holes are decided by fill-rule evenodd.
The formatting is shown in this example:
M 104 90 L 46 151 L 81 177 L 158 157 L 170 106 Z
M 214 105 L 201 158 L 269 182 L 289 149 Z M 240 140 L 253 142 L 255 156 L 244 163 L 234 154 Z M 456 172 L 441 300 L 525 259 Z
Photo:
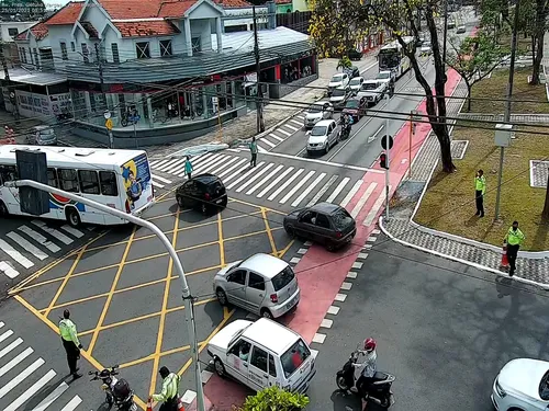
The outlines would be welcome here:
M 155 201 L 147 153 L 143 150 L 114 150 L 57 146 L 0 146 L 0 215 L 25 216 L 19 203 L 19 189 L 7 187 L 18 179 L 16 150 L 46 153 L 48 185 L 93 199 L 109 207 L 141 215 Z M 121 225 L 127 220 L 88 207 L 69 198 L 49 194 L 49 213 L 41 218 L 80 224 Z

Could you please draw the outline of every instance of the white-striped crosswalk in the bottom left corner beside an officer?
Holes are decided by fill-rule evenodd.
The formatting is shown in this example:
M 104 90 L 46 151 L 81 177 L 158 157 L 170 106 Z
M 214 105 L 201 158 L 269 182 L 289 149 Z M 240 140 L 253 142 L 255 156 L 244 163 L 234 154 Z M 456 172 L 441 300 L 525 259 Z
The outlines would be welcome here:
M 68 384 L 54 379 L 23 339 L 0 321 L 0 410 L 74 411 L 82 399 L 68 391 Z

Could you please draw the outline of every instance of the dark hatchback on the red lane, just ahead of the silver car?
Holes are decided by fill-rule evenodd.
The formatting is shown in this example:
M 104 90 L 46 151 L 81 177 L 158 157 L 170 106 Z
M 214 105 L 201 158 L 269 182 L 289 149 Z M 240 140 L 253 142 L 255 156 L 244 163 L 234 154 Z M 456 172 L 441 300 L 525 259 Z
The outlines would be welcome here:
M 283 227 L 290 236 L 324 244 L 334 251 L 350 242 L 357 233 L 355 219 L 341 206 L 318 203 L 284 217 Z

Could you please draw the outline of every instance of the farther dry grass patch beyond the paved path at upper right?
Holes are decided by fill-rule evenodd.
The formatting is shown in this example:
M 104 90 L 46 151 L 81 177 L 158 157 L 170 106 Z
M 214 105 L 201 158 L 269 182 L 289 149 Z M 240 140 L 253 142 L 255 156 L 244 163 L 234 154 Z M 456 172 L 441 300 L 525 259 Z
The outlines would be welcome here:
M 516 114 L 548 114 L 549 102 L 547 101 L 546 87 L 529 85 L 528 76 L 531 75 L 531 67 L 517 68 L 513 84 L 513 103 L 511 112 Z M 473 85 L 471 96 L 473 99 L 500 99 L 507 95 L 507 81 L 509 71 L 495 70 L 490 79 L 479 81 Z M 520 102 L 524 100 L 536 101 L 538 103 Z M 463 110 L 467 109 L 467 104 Z M 505 111 L 504 101 L 472 100 L 471 113 L 503 114 Z

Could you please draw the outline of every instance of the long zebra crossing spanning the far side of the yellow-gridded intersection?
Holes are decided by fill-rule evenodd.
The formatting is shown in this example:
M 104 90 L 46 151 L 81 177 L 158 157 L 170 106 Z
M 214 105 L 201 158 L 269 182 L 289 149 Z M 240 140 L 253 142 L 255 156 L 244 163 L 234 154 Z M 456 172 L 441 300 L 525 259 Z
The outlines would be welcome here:
M 279 157 L 265 155 L 257 167 L 249 167 L 249 157 L 236 151 L 210 152 L 193 158 L 193 175 L 209 172 L 223 180 L 229 196 L 265 204 L 284 210 L 310 207 L 320 202 L 339 204 L 350 208 L 352 198 L 360 192 L 360 198 L 349 213 L 356 218 L 369 198 L 377 196 L 371 212 L 362 221 L 369 226 L 379 209 L 383 207 L 385 187 L 372 182 L 366 187 L 365 171 L 347 170 L 328 163 L 303 162 L 303 160 L 278 163 Z M 165 159 L 150 162 L 153 179 L 160 173 L 164 180 L 171 175 L 175 183 L 184 181 L 184 159 Z M 316 168 L 316 170 L 312 170 Z M 171 182 L 171 181 L 170 181 Z M 366 191 L 363 190 L 366 187 Z

